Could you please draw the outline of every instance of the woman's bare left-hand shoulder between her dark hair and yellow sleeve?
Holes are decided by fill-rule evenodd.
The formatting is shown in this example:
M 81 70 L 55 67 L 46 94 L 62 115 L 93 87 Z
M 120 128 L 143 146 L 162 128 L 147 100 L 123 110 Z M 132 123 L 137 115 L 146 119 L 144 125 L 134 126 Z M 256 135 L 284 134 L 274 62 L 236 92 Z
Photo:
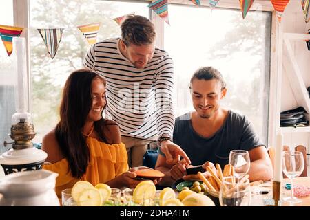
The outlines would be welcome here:
M 48 154 L 48 157 L 45 160 L 46 162 L 54 164 L 64 158 L 63 154 L 61 153 L 59 143 L 56 139 L 56 133 L 54 129 L 44 135 L 42 140 L 42 150 Z

